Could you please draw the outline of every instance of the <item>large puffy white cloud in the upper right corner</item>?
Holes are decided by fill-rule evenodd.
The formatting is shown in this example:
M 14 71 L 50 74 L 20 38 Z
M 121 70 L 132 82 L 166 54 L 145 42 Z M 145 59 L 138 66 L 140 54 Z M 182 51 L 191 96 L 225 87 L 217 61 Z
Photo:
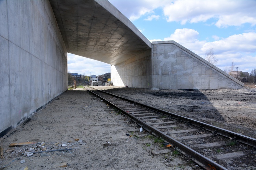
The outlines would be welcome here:
M 219 28 L 241 26 L 244 23 L 256 24 L 256 1 L 248 0 L 177 0 L 163 7 L 167 21 L 197 23 L 211 18 L 217 19 Z

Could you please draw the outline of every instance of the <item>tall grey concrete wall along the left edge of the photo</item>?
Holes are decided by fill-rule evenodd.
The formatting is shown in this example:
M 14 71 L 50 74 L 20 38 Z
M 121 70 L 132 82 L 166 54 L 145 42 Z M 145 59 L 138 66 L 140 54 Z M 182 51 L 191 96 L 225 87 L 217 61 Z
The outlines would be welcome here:
M 67 89 L 67 50 L 48 0 L 0 0 L 0 137 Z

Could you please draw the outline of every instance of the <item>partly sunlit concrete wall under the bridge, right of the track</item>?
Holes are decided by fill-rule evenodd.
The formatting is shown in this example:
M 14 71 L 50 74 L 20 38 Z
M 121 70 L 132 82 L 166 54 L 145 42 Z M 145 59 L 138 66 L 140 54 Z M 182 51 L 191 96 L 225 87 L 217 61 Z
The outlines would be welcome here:
M 115 86 L 151 88 L 151 49 L 111 66 Z

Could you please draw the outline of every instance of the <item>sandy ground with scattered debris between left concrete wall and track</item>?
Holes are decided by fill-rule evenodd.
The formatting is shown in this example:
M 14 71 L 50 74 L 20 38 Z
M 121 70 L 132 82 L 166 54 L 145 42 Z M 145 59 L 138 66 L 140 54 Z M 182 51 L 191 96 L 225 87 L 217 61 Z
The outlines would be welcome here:
M 173 155 L 172 149 L 160 147 L 146 131 L 128 132 L 130 129 L 139 127 L 111 111 L 94 95 L 79 89 L 68 90 L 0 139 L 4 151 L 0 169 L 193 169 L 195 166 L 186 157 Z M 75 139 L 80 142 L 70 147 L 72 150 L 32 156 L 25 153 L 65 149 L 65 145 L 76 143 Z M 18 142 L 38 144 L 9 147 Z M 152 154 L 165 149 L 169 153 Z

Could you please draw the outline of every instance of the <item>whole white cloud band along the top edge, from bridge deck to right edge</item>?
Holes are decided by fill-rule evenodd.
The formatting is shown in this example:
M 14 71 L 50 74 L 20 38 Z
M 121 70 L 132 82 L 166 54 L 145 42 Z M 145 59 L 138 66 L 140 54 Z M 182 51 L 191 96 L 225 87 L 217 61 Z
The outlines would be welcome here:
M 109 0 L 128 19 L 134 21 L 143 15 L 162 8 L 168 22 L 198 23 L 215 19 L 218 28 L 241 26 L 244 23 L 256 25 L 255 0 Z M 153 16 L 153 15 L 152 15 Z M 147 19 L 151 19 L 148 16 Z M 147 20 L 146 19 L 146 20 Z M 153 19 L 153 18 L 152 18 Z

